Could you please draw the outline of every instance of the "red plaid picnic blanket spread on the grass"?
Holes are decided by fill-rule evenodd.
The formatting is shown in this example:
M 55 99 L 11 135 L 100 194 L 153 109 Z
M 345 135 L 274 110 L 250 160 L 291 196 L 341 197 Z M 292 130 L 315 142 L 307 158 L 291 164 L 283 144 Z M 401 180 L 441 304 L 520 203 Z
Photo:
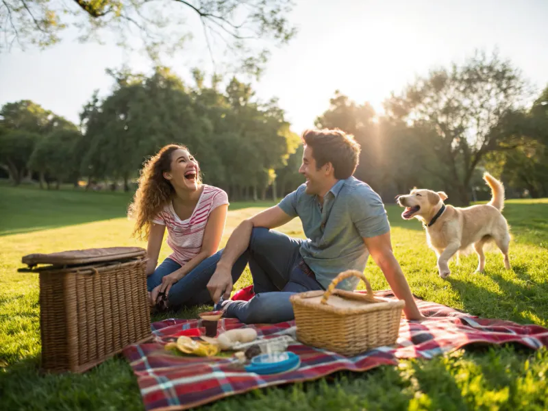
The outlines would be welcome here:
M 393 297 L 390 291 L 375 294 Z M 297 343 L 288 350 L 299 355 L 301 366 L 279 375 L 237 371 L 229 358 L 181 357 L 163 349 L 178 336 L 203 331 L 199 320 L 169 319 L 153 323 L 154 342 L 131 345 L 124 353 L 137 376 L 145 408 L 157 411 L 186 410 L 256 388 L 318 379 L 336 371 L 366 371 L 380 365 L 395 365 L 400 358 L 432 358 L 473 343 L 521 343 L 532 349 L 548 345 L 548 329 L 538 325 L 478 319 L 438 303 L 421 299 L 416 302 L 423 315 L 436 318 L 422 323 L 402 319 L 397 345 L 347 358 Z M 243 325 L 235 319 L 221 321 L 224 329 L 253 327 L 264 338 L 277 336 L 293 325 L 294 322 Z

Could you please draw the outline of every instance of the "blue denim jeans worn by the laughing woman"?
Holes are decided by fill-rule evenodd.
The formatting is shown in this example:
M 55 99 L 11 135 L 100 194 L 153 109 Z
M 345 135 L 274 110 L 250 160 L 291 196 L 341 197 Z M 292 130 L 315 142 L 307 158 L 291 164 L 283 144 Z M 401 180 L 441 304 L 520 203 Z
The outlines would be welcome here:
M 210 292 L 206 288 L 210 278 L 215 272 L 217 262 L 221 259 L 223 250 L 217 251 L 213 256 L 206 258 L 200 264 L 173 284 L 169 290 L 168 303 L 172 308 L 190 306 L 212 305 Z M 232 267 L 232 282 L 238 281 L 247 265 L 248 252 L 245 251 Z M 162 278 L 181 268 L 181 264 L 166 258 L 162 264 L 156 267 L 154 273 L 147 278 L 147 289 L 153 290 L 162 284 Z

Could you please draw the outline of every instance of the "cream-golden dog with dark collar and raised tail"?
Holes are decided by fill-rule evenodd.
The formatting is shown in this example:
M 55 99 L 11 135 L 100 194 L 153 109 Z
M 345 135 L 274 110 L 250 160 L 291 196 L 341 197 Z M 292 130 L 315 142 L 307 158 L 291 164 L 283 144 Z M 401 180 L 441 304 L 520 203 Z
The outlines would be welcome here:
M 502 216 L 504 206 L 504 186 L 489 173 L 484 173 L 484 180 L 491 188 L 493 198 L 488 204 L 458 208 L 445 206 L 447 195 L 443 191 L 418 190 L 414 188 L 409 195 L 397 197 L 399 206 L 406 209 L 401 214 L 403 219 L 419 219 L 426 229 L 428 245 L 438 257 L 440 277 L 445 278 L 449 270 L 449 259 L 455 254 L 473 245 L 479 264 L 477 271 L 484 271 L 484 245 L 493 240 L 504 255 L 504 266 L 510 269 L 508 244 L 510 233 L 508 223 Z M 458 255 L 457 255 L 458 258 Z M 458 260 L 457 260 L 458 261 Z

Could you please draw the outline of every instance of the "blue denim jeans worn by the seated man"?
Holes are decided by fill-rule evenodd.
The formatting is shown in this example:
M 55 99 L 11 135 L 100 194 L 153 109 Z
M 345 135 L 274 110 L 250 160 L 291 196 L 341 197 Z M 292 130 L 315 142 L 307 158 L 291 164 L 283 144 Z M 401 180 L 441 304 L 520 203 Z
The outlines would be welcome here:
M 297 292 L 323 290 L 314 275 L 301 269 L 302 241 L 266 228 L 253 228 L 248 251 L 256 295 L 249 301 L 229 303 L 225 316 L 245 324 L 294 319 L 289 297 Z

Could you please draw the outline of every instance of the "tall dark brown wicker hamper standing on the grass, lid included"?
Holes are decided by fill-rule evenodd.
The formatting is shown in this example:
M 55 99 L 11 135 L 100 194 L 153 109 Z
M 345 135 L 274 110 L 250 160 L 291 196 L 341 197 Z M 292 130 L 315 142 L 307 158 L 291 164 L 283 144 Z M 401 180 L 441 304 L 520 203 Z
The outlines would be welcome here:
M 40 276 L 44 371 L 81 373 L 151 336 L 145 249 L 30 254 L 23 264 Z

